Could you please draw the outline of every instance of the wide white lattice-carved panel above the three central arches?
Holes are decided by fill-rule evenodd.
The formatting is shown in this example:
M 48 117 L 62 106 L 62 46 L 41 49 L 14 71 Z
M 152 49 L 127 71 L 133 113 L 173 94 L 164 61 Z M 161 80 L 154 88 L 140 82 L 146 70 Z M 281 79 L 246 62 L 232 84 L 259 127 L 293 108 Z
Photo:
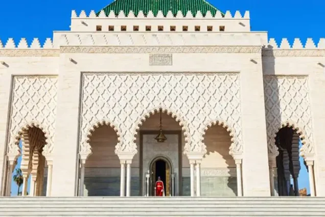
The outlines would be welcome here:
M 159 107 L 182 126 L 185 153 L 206 152 L 202 134 L 216 119 L 234 129 L 234 143 L 242 145 L 238 73 L 84 73 L 81 106 L 80 144 L 93 121 L 110 120 L 120 129 L 117 154 L 137 152 L 137 130 Z

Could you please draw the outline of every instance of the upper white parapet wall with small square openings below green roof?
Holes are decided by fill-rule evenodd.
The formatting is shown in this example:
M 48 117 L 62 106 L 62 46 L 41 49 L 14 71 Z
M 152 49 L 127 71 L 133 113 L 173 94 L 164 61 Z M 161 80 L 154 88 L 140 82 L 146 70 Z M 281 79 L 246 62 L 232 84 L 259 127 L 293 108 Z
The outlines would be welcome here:
M 172 11 L 162 11 L 153 13 L 149 11 L 144 13 L 138 11 L 137 14 L 129 11 L 126 14 L 120 11 L 116 14 L 114 11 L 95 13 L 91 11 L 88 15 L 81 11 L 79 16 L 76 11 L 71 15 L 72 32 L 250 32 L 249 11 L 244 15 L 236 11 L 234 15 L 230 11 L 222 14 L 216 11 L 214 14 L 207 11 L 204 15 L 201 11 L 195 14 L 188 11 L 183 14 L 178 11 L 173 14 Z

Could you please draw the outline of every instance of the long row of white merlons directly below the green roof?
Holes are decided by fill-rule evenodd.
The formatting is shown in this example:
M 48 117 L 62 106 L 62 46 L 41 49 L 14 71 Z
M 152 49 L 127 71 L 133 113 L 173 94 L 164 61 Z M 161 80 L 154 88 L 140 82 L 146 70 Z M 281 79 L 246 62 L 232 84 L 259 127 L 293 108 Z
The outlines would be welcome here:
M 108 16 L 106 16 L 106 13 L 103 10 L 98 14 L 92 10 L 90 11 L 89 15 L 87 15 L 86 12 L 82 10 L 78 16 L 77 12 L 73 10 L 71 18 L 249 19 L 249 11 L 245 11 L 244 16 L 242 16 L 240 11 L 236 11 L 234 15 L 232 15 L 230 11 L 226 11 L 225 14 L 217 11 L 214 16 L 210 11 L 207 11 L 204 16 L 202 15 L 201 11 L 197 11 L 195 15 L 193 15 L 191 11 L 188 11 L 186 14 L 183 14 L 181 11 L 178 11 L 177 14 L 173 14 L 172 11 L 168 11 L 166 16 L 164 16 L 162 11 L 158 11 L 156 16 L 152 11 L 149 11 L 147 15 L 145 15 L 143 11 L 140 11 L 137 15 L 135 15 L 133 11 L 130 11 L 128 14 L 125 14 L 124 11 L 120 11 L 119 14 L 115 14 L 114 11 L 110 11 Z

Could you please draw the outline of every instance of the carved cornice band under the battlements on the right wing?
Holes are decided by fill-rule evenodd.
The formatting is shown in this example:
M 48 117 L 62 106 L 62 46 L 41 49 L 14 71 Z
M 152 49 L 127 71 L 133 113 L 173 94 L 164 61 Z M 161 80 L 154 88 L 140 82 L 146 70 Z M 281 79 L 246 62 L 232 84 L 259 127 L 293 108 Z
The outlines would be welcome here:
M 262 57 L 325 57 L 325 49 L 262 49 Z

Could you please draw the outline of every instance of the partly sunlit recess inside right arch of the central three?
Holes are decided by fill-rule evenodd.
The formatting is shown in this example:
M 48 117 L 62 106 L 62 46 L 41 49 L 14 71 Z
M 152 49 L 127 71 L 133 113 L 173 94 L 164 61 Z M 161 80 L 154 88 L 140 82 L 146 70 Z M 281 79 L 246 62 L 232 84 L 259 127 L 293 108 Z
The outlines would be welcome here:
M 201 142 L 205 153 L 201 162 L 201 184 L 204 182 L 207 184 L 201 187 L 202 195 L 205 193 L 208 194 L 206 196 L 238 195 L 234 158 L 235 141 L 234 130 L 223 121 L 212 121 L 204 128 Z M 208 164 L 207 167 L 206 164 Z M 204 169 L 207 170 L 206 174 L 203 173 Z M 222 185 L 227 187 L 218 188 Z

